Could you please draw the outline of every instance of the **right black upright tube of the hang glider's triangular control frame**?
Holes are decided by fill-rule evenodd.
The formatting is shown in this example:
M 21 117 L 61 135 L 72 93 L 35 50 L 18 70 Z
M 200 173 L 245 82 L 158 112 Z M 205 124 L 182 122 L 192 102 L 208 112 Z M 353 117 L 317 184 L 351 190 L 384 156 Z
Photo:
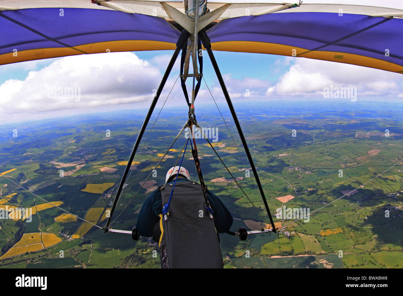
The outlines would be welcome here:
M 208 53 L 208 56 L 209 56 L 209 58 L 211 60 L 212 65 L 213 65 L 214 71 L 216 72 L 217 79 L 220 82 L 222 92 L 224 93 L 224 97 L 225 97 L 225 99 L 227 101 L 227 104 L 228 104 L 228 107 L 229 107 L 229 109 L 231 111 L 231 115 L 233 117 L 235 126 L 237 126 L 239 137 L 241 138 L 243 148 L 245 149 L 245 153 L 246 153 L 246 155 L 248 157 L 248 160 L 249 160 L 249 163 L 251 165 L 253 175 L 255 176 L 256 183 L 258 184 L 260 195 L 262 196 L 264 207 L 266 208 L 267 215 L 269 216 L 269 219 L 270 219 L 270 224 L 272 224 L 271 225 L 272 229 L 273 229 L 272 231 L 274 233 L 276 233 L 276 228 L 274 227 L 274 222 L 273 222 L 272 215 L 270 213 L 269 205 L 267 204 L 266 197 L 264 195 L 264 191 L 263 191 L 263 188 L 262 188 L 262 184 L 260 184 L 258 172 L 256 171 L 255 164 L 253 164 L 253 159 L 252 159 L 251 153 L 249 152 L 249 148 L 248 148 L 248 145 L 246 143 L 245 136 L 243 135 L 241 125 L 239 124 L 237 113 L 234 110 L 234 106 L 233 106 L 233 104 L 231 102 L 231 98 L 229 97 L 229 93 L 228 93 L 228 91 L 226 89 L 224 80 L 222 79 L 222 75 L 221 75 L 220 69 L 218 68 L 216 58 L 214 58 L 213 51 L 211 50 L 210 38 L 207 36 L 207 33 L 206 33 L 205 29 L 203 29 L 202 31 L 199 32 L 199 37 L 202 40 L 204 48 L 206 48 L 206 50 L 207 50 L 207 53 Z

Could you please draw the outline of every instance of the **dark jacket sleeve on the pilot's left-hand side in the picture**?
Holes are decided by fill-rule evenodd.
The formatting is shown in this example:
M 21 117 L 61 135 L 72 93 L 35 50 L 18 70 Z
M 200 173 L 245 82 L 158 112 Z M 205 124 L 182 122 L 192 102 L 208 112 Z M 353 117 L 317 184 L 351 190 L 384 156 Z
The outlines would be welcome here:
M 152 236 L 156 217 L 158 217 L 160 213 L 162 213 L 161 193 L 156 189 L 147 197 L 137 217 L 136 228 L 141 236 Z

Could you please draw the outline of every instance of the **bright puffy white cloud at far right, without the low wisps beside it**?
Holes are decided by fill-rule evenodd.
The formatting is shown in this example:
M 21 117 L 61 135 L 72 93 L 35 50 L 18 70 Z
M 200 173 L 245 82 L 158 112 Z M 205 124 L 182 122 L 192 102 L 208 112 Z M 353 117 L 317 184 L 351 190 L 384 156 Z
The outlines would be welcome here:
M 287 63 L 290 60 L 287 59 Z M 280 64 L 280 62 L 278 62 Z M 284 64 L 284 63 L 283 63 Z M 266 89 L 273 97 L 322 95 L 326 87 L 353 87 L 361 97 L 399 97 L 401 74 L 362 66 L 294 58 L 289 70 Z

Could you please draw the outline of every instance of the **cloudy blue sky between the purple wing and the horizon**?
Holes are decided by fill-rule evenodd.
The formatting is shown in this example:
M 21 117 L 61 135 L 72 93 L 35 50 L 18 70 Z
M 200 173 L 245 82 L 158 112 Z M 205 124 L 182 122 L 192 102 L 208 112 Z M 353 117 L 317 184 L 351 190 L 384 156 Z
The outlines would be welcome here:
M 401 0 L 304 0 L 303 3 L 358 4 L 403 9 Z M 104 53 L 2 65 L 0 124 L 148 108 L 172 52 Z M 214 54 L 234 103 L 262 98 L 266 101 L 285 102 L 323 99 L 324 87 L 329 85 L 357 87 L 358 99 L 403 102 L 401 74 L 306 58 L 235 52 Z M 173 87 L 167 106 L 185 105 L 180 80 L 177 80 L 179 62 L 180 58 L 168 78 L 160 104 Z M 204 56 L 204 78 L 214 99 L 223 101 L 222 91 L 207 54 Z M 189 93 L 191 82 L 189 78 Z M 64 91 L 64 88 L 72 89 L 73 93 L 59 97 L 58 92 L 60 89 Z M 203 81 L 196 106 L 211 102 L 212 96 Z

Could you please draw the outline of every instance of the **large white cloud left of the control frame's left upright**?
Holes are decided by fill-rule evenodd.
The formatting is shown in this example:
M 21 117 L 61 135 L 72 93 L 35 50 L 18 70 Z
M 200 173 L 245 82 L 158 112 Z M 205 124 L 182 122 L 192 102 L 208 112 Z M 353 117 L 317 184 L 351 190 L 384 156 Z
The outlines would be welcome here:
M 158 66 L 130 52 L 64 57 L 0 85 L 0 109 L 18 114 L 146 102 L 161 76 Z

